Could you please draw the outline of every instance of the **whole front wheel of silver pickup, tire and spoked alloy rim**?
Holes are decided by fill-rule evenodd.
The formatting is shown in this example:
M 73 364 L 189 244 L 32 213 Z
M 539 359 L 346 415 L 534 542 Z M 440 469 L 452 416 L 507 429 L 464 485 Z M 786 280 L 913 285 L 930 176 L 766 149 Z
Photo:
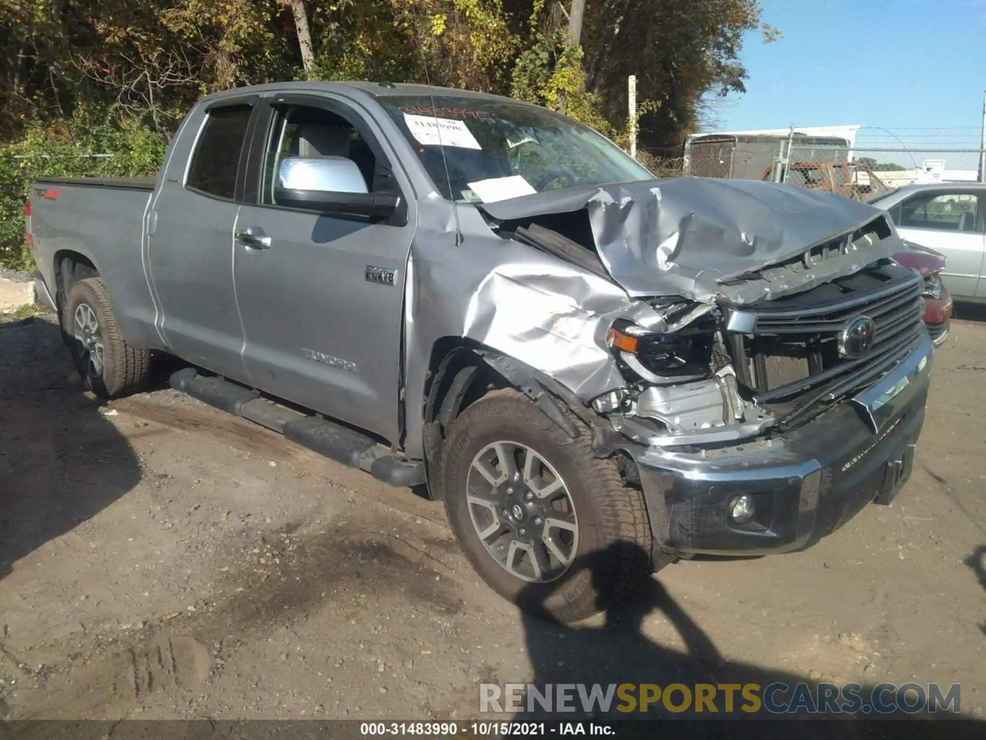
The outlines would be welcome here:
M 447 442 L 445 502 L 482 578 L 528 611 L 575 622 L 605 609 L 650 567 L 640 491 L 515 391 L 466 408 Z

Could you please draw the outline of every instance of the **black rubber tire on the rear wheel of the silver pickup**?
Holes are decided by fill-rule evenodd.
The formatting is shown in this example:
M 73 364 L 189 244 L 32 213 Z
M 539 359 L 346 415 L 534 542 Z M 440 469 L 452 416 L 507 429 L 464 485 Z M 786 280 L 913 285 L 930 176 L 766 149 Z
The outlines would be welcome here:
M 93 312 L 103 344 L 102 368 L 94 363 L 86 345 L 76 338 L 76 316 L 80 307 Z M 105 399 L 116 399 L 142 390 L 151 373 L 151 352 L 137 349 L 123 340 L 116 324 L 106 286 L 99 277 L 80 280 L 69 291 L 63 331 L 69 351 L 87 390 Z

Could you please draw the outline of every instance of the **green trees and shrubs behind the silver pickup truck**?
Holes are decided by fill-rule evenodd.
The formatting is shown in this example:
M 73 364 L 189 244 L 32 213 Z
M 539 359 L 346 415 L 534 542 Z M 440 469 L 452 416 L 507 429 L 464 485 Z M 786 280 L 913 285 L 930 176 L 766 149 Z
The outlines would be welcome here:
M 194 101 L 237 86 L 431 81 L 621 141 L 635 74 L 641 146 L 678 146 L 703 96 L 743 89 L 759 14 L 757 0 L 0 0 L 0 262 L 24 254 L 30 178 L 153 172 Z

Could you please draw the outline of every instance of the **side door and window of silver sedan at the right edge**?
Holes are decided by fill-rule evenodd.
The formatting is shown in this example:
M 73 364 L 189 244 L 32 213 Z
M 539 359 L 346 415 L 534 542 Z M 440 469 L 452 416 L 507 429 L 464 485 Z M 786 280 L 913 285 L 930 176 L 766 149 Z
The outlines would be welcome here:
M 945 255 L 942 280 L 954 298 L 982 295 L 979 275 L 986 237 L 981 200 L 961 188 L 936 189 L 918 192 L 890 211 L 900 236 Z

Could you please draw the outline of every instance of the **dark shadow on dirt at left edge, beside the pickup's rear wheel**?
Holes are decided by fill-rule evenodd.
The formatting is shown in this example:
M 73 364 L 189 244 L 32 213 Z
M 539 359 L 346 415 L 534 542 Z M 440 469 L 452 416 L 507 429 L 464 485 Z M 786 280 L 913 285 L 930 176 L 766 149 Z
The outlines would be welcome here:
M 0 326 L 0 579 L 140 480 L 133 449 L 73 374 L 53 323 Z

